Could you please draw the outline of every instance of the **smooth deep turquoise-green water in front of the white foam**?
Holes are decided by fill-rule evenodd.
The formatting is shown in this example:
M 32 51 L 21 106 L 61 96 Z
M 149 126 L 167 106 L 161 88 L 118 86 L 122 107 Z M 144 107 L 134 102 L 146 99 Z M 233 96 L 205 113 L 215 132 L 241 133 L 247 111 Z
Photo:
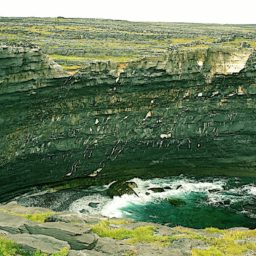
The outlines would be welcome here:
M 122 208 L 124 216 L 139 220 L 192 228 L 256 228 L 256 219 L 236 212 L 230 206 L 209 205 L 203 193 L 190 193 L 182 199 L 163 199 Z M 239 206 L 238 206 L 239 207 Z

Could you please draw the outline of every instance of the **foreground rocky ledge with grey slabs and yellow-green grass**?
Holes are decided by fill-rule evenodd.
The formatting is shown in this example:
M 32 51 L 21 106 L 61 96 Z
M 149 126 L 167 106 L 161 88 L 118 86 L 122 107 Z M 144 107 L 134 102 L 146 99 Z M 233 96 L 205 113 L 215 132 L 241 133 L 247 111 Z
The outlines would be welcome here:
M 14 201 L 0 206 L 0 243 L 3 239 L 13 241 L 27 253 L 18 255 L 40 252 L 39 255 L 61 256 L 249 256 L 256 253 L 256 230 L 170 228 L 129 219 L 23 207 Z

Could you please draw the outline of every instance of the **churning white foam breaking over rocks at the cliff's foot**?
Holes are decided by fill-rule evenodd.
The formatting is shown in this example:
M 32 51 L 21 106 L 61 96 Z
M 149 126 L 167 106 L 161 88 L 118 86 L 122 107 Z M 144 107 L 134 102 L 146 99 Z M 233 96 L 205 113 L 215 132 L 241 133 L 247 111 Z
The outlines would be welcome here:
M 185 199 L 192 192 L 204 193 L 207 195 L 207 201 L 204 203 L 218 205 L 219 203 L 229 200 L 230 203 L 235 203 L 249 199 L 252 195 L 256 195 L 256 187 L 254 185 L 246 185 L 238 188 L 225 190 L 227 179 L 219 178 L 213 180 L 196 180 L 179 176 L 176 178 L 166 179 L 150 179 L 142 180 L 134 178 L 131 180 L 137 184 L 134 188 L 137 195 L 122 195 L 115 196 L 113 199 L 101 195 L 100 192 L 106 190 L 109 185 L 94 189 L 94 194 L 84 196 L 74 201 L 69 209 L 75 212 L 85 212 L 85 214 L 101 214 L 110 218 L 122 218 L 129 214 L 123 211 L 123 208 L 130 205 L 145 205 L 151 202 L 159 202 L 163 199 L 178 197 Z M 163 192 L 153 192 L 151 188 L 164 188 Z M 93 208 L 89 205 L 90 202 L 98 203 L 97 207 Z

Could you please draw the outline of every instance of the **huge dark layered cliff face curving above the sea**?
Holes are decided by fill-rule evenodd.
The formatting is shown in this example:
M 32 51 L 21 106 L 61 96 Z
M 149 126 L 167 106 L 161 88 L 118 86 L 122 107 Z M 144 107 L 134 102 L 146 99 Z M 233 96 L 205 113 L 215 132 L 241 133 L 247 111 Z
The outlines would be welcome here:
M 1 63 L 12 61 L 0 66 L 1 200 L 75 178 L 255 176 L 250 48 L 174 50 L 73 77 L 34 50 L 22 53 L 27 68 L 44 65 L 27 76 L 16 51 L 0 51 Z

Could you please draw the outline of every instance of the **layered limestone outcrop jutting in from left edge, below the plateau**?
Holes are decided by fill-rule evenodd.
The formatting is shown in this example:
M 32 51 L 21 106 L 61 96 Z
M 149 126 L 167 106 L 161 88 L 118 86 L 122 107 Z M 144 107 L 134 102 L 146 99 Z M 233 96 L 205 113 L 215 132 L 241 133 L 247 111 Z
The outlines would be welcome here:
M 43 86 L 47 78 L 64 76 L 39 48 L 0 45 L 0 94 Z

